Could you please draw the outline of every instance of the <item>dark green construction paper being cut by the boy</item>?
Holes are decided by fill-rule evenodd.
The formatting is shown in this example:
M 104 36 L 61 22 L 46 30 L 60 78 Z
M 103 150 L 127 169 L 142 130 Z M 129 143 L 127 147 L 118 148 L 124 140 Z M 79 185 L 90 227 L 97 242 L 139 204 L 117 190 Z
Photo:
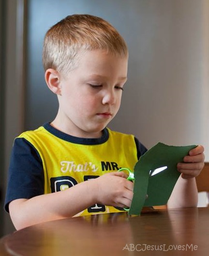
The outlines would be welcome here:
M 177 164 L 183 162 L 184 156 L 195 147 L 168 146 L 159 142 L 139 158 L 134 166 L 134 196 L 130 215 L 140 215 L 143 206 L 167 204 L 180 175 Z M 164 166 L 167 166 L 164 171 L 149 175 L 150 170 Z

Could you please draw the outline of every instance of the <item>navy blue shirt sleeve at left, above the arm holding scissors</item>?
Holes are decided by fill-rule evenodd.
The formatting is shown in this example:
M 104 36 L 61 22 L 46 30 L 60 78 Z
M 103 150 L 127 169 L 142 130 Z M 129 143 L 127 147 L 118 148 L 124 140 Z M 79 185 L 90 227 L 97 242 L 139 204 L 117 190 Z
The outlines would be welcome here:
M 14 141 L 4 208 L 15 199 L 29 199 L 44 194 L 44 171 L 40 155 L 25 138 Z

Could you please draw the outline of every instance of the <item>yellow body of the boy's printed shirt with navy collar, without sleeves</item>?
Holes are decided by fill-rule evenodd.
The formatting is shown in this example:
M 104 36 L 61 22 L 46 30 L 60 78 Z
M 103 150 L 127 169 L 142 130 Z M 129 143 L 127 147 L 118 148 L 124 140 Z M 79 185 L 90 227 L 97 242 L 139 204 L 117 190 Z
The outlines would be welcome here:
M 134 136 L 108 128 L 104 129 L 102 138 L 86 139 L 69 136 L 45 124 L 18 138 L 28 140 L 42 159 L 45 194 L 71 188 L 122 167 L 134 170 L 138 160 Z M 120 210 L 96 204 L 76 216 Z

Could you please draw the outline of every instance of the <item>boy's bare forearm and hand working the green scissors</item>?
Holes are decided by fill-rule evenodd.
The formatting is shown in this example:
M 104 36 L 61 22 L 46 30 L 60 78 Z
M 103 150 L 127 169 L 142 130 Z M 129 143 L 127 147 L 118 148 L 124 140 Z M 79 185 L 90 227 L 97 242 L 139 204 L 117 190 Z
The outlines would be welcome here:
M 16 229 L 72 217 L 94 205 L 130 207 L 133 183 L 123 172 L 111 172 L 96 179 L 81 182 L 72 188 L 30 199 L 16 199 L 9 204 L 11 219 Z

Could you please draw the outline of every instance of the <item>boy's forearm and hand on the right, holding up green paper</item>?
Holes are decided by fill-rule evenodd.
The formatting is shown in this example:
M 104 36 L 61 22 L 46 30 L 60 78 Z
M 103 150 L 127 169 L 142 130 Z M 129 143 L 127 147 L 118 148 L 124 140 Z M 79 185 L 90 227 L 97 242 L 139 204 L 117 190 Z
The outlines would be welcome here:
M 198 191 L 195 177 L 204 167 L 203 146 L 197 146 L 184 157 L 184 162 L 177 165 L 181 172 L 179 179 L 168 200 L 168 208 L 194 207 L 197 205 Z

